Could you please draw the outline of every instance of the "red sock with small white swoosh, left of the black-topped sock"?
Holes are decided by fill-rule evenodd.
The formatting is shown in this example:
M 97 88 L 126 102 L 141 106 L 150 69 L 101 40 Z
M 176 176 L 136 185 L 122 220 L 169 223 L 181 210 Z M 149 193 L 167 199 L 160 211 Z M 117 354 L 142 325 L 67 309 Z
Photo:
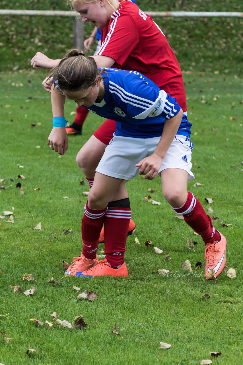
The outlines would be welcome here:
M 96 251 L 99 243 L 99 234 L 104 223 L 107 207 L 101 210 L 91 209 L 88 202 L 84 208 L 82 219 L 82 241 L 83 255 L 86 258 L 93 259 L 96 257 Z

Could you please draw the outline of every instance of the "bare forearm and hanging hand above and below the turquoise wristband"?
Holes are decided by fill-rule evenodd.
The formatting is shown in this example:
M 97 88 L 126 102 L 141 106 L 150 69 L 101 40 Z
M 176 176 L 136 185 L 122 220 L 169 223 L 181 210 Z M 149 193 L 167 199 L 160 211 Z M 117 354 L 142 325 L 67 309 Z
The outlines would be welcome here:
M 64 116 L 64 103 L 66 97 L 56 90 L 56 87 L 51 86 L 51 106 L 53 117 Z M 48 137 L 51 149 L 58 152 L 59 155 L 64 155 L 68 147 L 68 138 L 65 127 L 53 127 Z

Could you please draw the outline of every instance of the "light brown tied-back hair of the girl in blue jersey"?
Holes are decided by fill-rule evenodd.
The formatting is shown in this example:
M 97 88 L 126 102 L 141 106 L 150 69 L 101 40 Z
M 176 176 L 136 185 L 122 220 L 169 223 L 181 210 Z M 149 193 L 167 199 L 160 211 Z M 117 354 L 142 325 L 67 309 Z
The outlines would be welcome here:
M 48 74 L 53 77 L 53 83 L 60 92 L 70 93 L 80 89 L 93 88 L 97 76 L 101 75 L 93 57 L 85 57 L 79 49 L 68 52 Z

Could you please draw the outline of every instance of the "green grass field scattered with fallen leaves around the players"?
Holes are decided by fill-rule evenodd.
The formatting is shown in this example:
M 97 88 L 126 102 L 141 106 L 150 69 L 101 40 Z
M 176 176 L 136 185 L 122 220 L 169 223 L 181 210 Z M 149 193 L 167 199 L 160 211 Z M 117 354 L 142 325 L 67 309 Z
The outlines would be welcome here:
M 137 3 L 143 10 L 240 11 L 240 2 L 232 0 L 224 4 L 166 0 L 163 9 L 158 0 Z M 27 5 L 23 0 L 4 0 L 1 7 L 24 9 Z M 58 0 L 51 5 L 34 0 L 28 8 L 64 9 L 63 1 Z M 30 59 L 37 50 L 59 58 L 70 49 L 70 19 L 2 17 L 0 216 L 12 211 L 14 223 L 7 222 L 9 216 L 0 218 L 0 332 L 10 338 L 7 343 L 0 335 L 0 364 L 193 365 L 211 359 L 213 364 L 242 365 L 242 20 L 160 18 L 156 22 L 166 30 L 184 71 L 195 144 L 195 180 L 189 181 L 188 190 L 207 212 L 205 198 L 213 199 L 209 215 L 219 217 L 215 228 L 227 237 L 226 264 L 236 270 L 237 278 L 230 279 L 223 272 L 216 284 L 204 280 L 204 267 L 195 266 L 198 261 L 204 266 L 201 238 L 184 221 L 174 218 L 162 197 L 158 177 L 147 181 L 138 176 L 127 184 L 137 226 L 127 240 L 129 277 L 66 277 L 56 285 L 47 283 L 47 277 L 59 280 L 63 276 L 63 260 L 70 263 L 80 254 L 87 199 L 82 192 L 89 187 L 86 182 L 84 186 L 79 183 L 85 177 L 75 156 L 102 118 L 89 115 L 83 135 L 69 138 L 64 156 L 50 149 L 50 95 L 41 86 L 46 73 L 32 70 Z M 86 34 L 90 30 L 85 27 Z M 66 103 L 69 122 L 74 111 L 75 103 Z M 201 185 L 194 187 L 195 183 Z M 156 192 L 149 193 L 149 188 Z M 146 202 L 148 194 L 161 205 Z M 39 222 L 41 230 L 34 229 Z M 63 233 L 67 229 L 71 230 L 68 235 Z M 187 238 L 198 243 L 194 251 L 188 249 Z M 148 239 L 163 253 L 144 247 Z M 103 248 L 100 244 L 98 254 Z M 164 253 L 169 253 L 170 261 Z M 181 269 L 185 260 L 191 262 L 192 273 Z M 161 276 L 158 269 L 171 273 Z M 23 280 L 24 273 L 33 274 L 36 281 Z M 36 291 L 25 296 L 14 293 L 9 285 L 20 285 L 23 292 L 33 287 Z M 75 291 L 73 285 L 81 291 Z M 73 297 L 86 289 L 95 291 L 98 298 L 91 302 Z M 204 293 L 209 294 L 209 300 L 202 299 Z M 71 324 L 81 314 L 86 330 L 69 330 L 58 324 L 48 328 L 45 321 L 52 322 L 53 311 Z M 44 325 L 35 324 L 32 318 Z M 119 336 L 112 333 L 115 324 Z M 160 349 L 159 342 L 171 347 Z M 28 356 L 28 349 L 36 353 Z M 213 358 L 211 351 L 222 355 Z

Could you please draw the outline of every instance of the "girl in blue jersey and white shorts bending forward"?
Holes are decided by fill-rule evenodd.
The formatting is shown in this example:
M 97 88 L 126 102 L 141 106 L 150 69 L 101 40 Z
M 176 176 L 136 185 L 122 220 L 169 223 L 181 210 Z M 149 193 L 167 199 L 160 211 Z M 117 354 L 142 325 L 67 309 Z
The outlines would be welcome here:
M 51 76 L 54 129 L 48 139 L 52 149 L 57 148 L 52 143 L 52 133 L 56 135 L 56 128 L 61 133 L 65 127 L 64 117 L 56 115 L 60 93 L 62 103 L 66 98 L 75 100 L 78 106 L 83 105 L 100 116 L 115 119 L 117 126 L 96 169 L 84 208 L 81 256 L 74 258 L 66 274 L 128 276 L 124 253 L 130 204 L 129 199 L 123 199 L 121 207 L 120 201 L 113 199 L 124 180 L 132 180 L 138 173 L 152 180 L 158 173 L 165 199 L 177 214 L 184 215 L 189 226 L 200 227 L 200 222 L 208 220 L 199 201 L 187 191 L 187 180 L 194 178 L 191 172 L 193 143 L 189 138 L 191 123 L 175 98 L 139 72 L 99 69 L 92 57 L 85 57 L 78 50 L 70 51 L 51 71 Z M 196 202 L 199 208 L 191 216 Z M 106 256 L 98 261 L 96 251 L 104 222 Z M 206 234 L 198 228 L 197 233 L 203 233 L 204 237 Z M 207 278 L 210 270 L 214 269 L 218 276 L 225 266 L 226 239 L 219 235 L 219 241 L 211 243 L 209 240 L 206 245 Z M 82 271 L 75 265 L 80 257 L 86 263 Z

